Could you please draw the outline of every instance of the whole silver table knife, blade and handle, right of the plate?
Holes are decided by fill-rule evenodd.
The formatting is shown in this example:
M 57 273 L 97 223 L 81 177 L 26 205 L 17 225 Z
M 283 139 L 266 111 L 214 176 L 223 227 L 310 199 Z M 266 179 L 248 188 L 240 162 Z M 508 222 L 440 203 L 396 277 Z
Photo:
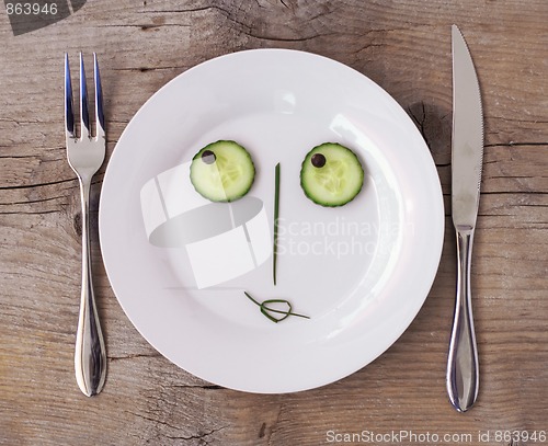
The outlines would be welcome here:
M 476 69 L 456 25 L 453 42 L 452 208 L 457 232 L 457 297 L 447 359 L 447 392 L 465 412 L 478 397 L 479 362 L 473 331 L 470 266 L 480 198 L 483 118 Z

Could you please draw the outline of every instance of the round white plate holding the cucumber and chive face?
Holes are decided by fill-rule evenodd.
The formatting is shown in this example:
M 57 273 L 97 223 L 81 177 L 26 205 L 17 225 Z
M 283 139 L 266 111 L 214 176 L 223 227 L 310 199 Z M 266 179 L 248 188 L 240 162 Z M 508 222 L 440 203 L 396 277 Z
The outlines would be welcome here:
M 248 221 L 204 236 L 193 233 L 199 229 L 194 220 L 181 232 L 192 240 L 152 236 L 176 217 L 199 216 L 191 209 L 208 209 L 189 190 L 187 162 L 218 139 L 239 141 L 254 160 Z M 365 170 L 362 192 L 339 208 L 315 205 L 299 184 L 305 155 L 324 141 L 354 150 Z M 206 228 L 212 220 L 218 219 L 203 220 Z M 172 235 L 178 228 L 171 227 Z M 249 244 L 242 233 L 251 237 Z M 251 392 L 322 386 L 385 352 L 429 294 L 443 235 L 437 172 L 406 112 L 359 72 L 295 50 L 227 55 L 169 82 L 125 129 L 101 194 L 106 272 L 137 330 L 185 370 Z M 197 241 L 192 249 L 191 241 Z M 228 270 L 215 250 L 219 258 L 232 250 Z M 287 299 L 310 319 L 273 323 L 244 290 L 259 300 Z

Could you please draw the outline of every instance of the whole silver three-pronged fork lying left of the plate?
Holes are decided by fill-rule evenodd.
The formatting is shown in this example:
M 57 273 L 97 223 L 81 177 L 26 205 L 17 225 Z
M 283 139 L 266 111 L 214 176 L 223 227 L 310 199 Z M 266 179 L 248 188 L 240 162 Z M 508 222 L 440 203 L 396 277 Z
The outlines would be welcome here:
M 93 293 L 89 238 L 91 179 L 103 163 L 105 156 L 103 99 L 95 53 L 93 53 L 93 73 L 95 81 L 95 136 L 91 134 L 85 72 L 83 57 L 80 53 L 80 136 L 78 137 L 75 128 L 69 60 L 68 54 L 65 54 L 67 158 L 78 176 L 82 205 L 82 289 L 76 336 L 75 371 L 78 387 L 88 397 L 92 397 L 102 390 L 106 377 L 106 352 Z

